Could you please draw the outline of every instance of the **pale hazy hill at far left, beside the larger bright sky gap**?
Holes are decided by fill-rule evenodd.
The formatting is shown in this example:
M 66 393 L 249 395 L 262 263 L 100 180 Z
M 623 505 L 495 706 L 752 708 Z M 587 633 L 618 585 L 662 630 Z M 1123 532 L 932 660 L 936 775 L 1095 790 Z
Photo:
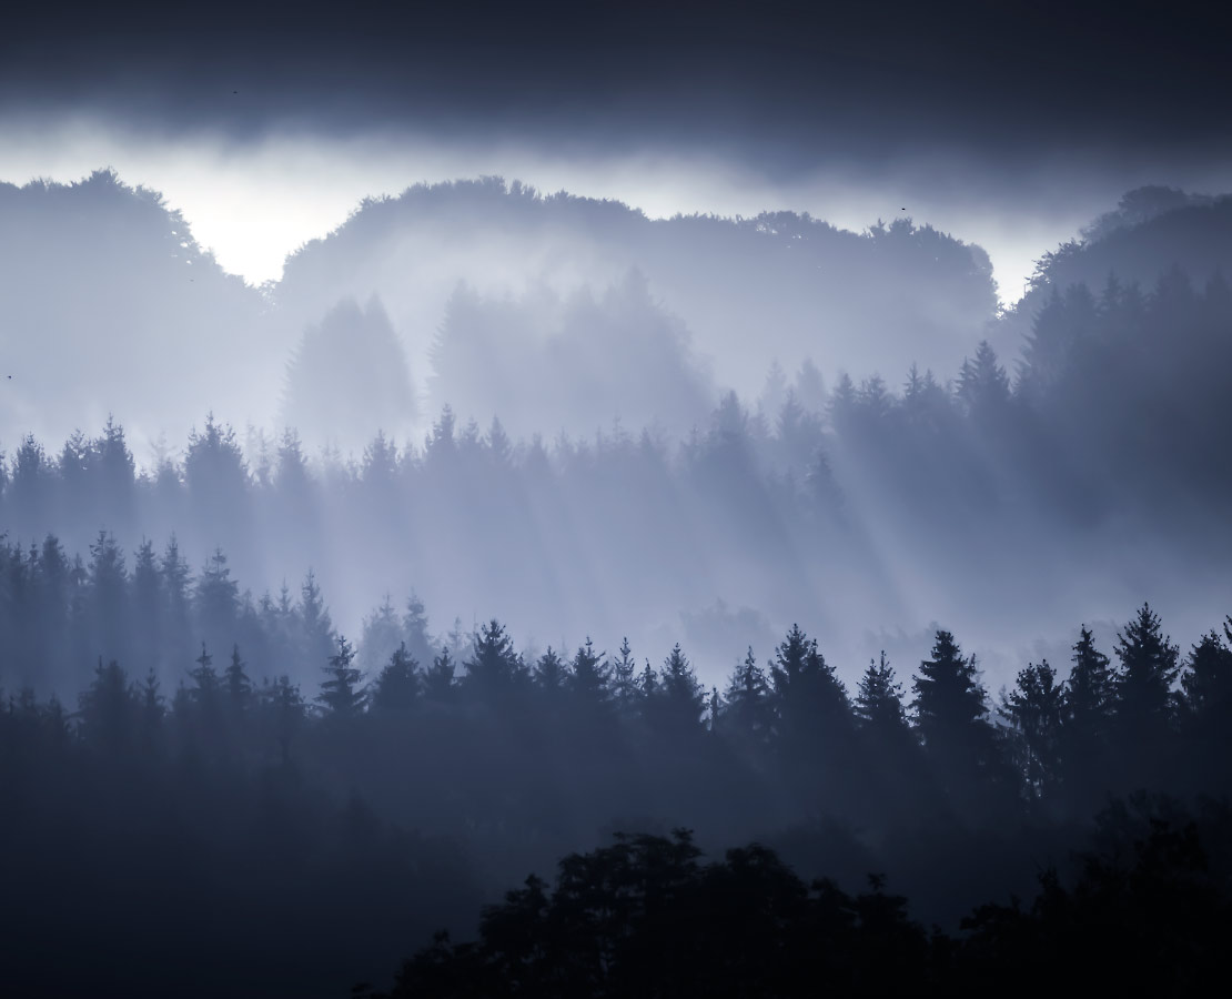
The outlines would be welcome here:
M 265 341 L 264 308 L 158 193 L 113 172 L 0 185 L 0 374 L 12 376 L 0 427 L 10 441 L 99 426 L 108 413 L 143 443 L 184 434 L 211 408 L 267 420 L 285 347 Z

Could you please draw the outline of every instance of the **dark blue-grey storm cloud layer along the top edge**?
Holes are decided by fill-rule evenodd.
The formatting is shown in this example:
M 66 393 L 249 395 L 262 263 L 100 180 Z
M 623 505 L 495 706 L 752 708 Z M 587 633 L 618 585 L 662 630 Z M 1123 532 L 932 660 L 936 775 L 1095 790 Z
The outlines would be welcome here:
M 59 7 L 0 36 L 9 112 L 234 139 L 415 129 L 702 148 L 785 176 L 906 149 L 1198 158 L 1232 134 L 1220 15 L 1122 4 Z

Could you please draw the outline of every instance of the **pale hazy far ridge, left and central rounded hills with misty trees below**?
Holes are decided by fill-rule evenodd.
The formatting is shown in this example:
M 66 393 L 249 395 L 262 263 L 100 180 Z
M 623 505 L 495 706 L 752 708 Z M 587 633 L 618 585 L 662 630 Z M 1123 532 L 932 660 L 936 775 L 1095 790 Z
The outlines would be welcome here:
M 995 309 L 987 255 L 907 220 L 659 220 L 495 179 L 365 202 L 260 291 L 113 174 L 5 185 L 0 262 L 5 436 L 112 413 L 143 462 L 209 408 L 313 448 L 419 432 L 445 403 L 526 434 L 683 434 L 776 357 L 949 370 Z

